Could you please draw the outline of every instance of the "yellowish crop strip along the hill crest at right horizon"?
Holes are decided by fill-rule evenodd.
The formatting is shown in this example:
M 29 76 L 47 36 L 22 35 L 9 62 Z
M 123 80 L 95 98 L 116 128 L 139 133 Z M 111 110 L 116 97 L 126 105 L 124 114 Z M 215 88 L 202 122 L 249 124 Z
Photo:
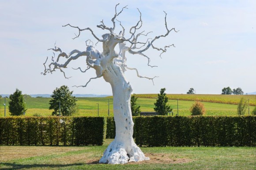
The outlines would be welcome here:
M 169 100 L 205 101 L 237 105 L 241 98 L 249 99 L 251 106 L 256 106 L 256 95 L 222 95 L 222 94 L 166 94 Z M 157 98 L 157 94 L 136 94 L 138 98 Z

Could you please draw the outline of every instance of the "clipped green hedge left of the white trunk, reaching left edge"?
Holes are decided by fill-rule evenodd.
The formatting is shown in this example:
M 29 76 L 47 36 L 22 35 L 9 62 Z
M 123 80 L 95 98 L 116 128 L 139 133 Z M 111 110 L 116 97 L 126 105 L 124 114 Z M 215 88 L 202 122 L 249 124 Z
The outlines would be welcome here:
M 105 117 L 0 118 L 0 145 L 102 145 Z

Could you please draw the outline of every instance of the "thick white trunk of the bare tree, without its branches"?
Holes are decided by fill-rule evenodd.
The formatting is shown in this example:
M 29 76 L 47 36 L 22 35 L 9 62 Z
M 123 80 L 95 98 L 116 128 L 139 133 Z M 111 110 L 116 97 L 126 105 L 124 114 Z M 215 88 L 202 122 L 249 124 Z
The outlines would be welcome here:
M 103 73 L 113 92 L 113 110 L 116 123 L 116 137 L 105 150 L 99 163 L 120 164 L 149 160 L 132 138 L 133 121 L 131 112 L 132 87 L 118 65 L 109 64 Z

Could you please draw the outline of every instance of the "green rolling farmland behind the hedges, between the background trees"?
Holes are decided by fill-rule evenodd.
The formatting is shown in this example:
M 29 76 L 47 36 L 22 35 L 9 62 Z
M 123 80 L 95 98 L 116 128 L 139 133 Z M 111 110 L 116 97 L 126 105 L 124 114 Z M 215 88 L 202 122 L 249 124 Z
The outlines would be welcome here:
M 179 97 L 179 95 L 183 98 L 179 98 L 178 100 L 178 108 L 177 108 L 177 99 L 172 100 L 169 99 L 168 104 L 173 108 L 173 115 L 179 114 L 180 116 L 188 116 L 190 115 L 189 108 L 194 103 L 194 100 L 197 96 L 208 96 L 209 98 L 217 98 L 217 96 L 226 96 L 226 98 L 222 97 L 222 101 L 227 100 L 229 96 L 233 98 L 233 100 L 240 100 L 237 98 L 239 95 L 188 95 L 188 94 L 168 94 L 168 97 L 173 95 L 172 98 Z M 138 98 L 137 105 L 140 105 L 142 112 L 154 112 L 154 102 L 156 101 L 157 94 L 136 94 Z M 188 97 L 186 97 L 188 96 Z M 143 97 L 143 98 L 142 98 Z M 146 98 L 147 97 L 147 98 Z M 155 97 L 155 98 L 154 98 Z M 240 96 L 241 97 L 241 96 Z M 256 95 L 244 95 L 244 97 L 250 97 L 250 105 L 252 105 L 253 98 L 256 98 Z M 188 101 L 190 98 L 191 101 Z M 26 102 L 26 116 L 50 116 L 53 110 L 49 110 L 49 100 L 51 98 L 25 98 Z M 182 100 L 181 100 L 182 99 Z M 6 115 L 9 115 L 8 109 L 8 101 L 9 98 L 6 99 Z M 233 101 L 233 103 L 234 103 Z M 109 106 L 108 106 L 109 102 Z M 0 116 L 4 116 L 4 99 L 0 99 Z M 73 116 L 98 116 L 98 104 L 99 104 L 99 116 L 108 116 L 108 108 L 109 108 L 109 116 L 113 116 L 113 97 L 106 98 L 78 98 L 77 107 L 78 112 L 73 114 Z M 237 115 L 237 105 L 223 104 L 223 103 L 214 103 L 214 102 L 203 102 L 206 108 L 206 115 L 214 116 L 214 115 L 223 115 L 223 116 L 231 116 Z M 250 111 L 252 111 L 254 107 L 250 106 Z M 246 113 L 248 114 L 248 112 Z

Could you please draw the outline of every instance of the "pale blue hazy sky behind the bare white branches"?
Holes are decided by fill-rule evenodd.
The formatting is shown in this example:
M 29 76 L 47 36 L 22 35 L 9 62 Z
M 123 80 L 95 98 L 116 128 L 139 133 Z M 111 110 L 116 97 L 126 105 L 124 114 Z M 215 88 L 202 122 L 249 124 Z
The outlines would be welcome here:
M 197 94 L 220 94 L 223 87 L 241 87 L 246 92 L 256 91 L 256 1 L 254 0 L 122 0 L 118 9 L 128 5 L 117 18 L 128 30 L 142 13 L 141 31 L 153 31 L 150 37 L 165 33 L 164 13 L 169 28 L 180 30 L 156 45 L 169 48 L 162 58 L 158 51 L 147 51 L 151 64 L 141 56 L 129 55 L 128 66 L 136 72 L 125 72 L 133 92 L 137 94 L 166 93 L 185 94 L 193 87 Z M 85 68 L 84 60 L 75 61 L 66 70 L 70 79 L 61 72 L 46 76 L 46 56 L 52 56 L 54 43 L 63 51 L 84 51 L 85 41 L 94 40 L 89 32 L 72 40 L 76 29 L 62 27 L 65 24 L 80 28 L 90 27 L 97 36 L 105 32 L 96 25 L 102 19 L 111 26 L 116 0 L 1 0 L 0 1 L 0 94 L 11 94 L 16 88 L 23 94 L 51 94 L 56 87 L 67 85 L 74 94 L 112 94 L 111 87 L 103 78 L 84 85 L 95 72 L 86 74 L 71 69 Z M 116 29 L 119 33 L 120 28 Z M 94 43 L 96 41 L 94 40 Z M 101 45 L 97 48 L 102 50 Z

